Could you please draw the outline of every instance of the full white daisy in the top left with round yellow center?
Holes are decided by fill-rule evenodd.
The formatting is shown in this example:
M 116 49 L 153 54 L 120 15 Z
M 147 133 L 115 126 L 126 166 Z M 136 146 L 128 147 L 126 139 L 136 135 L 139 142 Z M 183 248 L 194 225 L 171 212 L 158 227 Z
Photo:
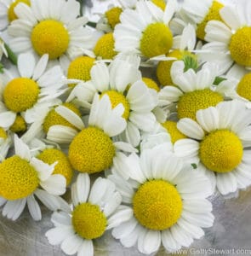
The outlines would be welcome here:
M 14 37 L 9 42 L 11 49 L 48 54 L 50 60 L 59 59 L 62 67 L 77 55 L 91 54 L 96 38 L 91 29 L 83 27 L 88 19 L 77 17 L 79 10 L 75 0 L 31 0 L 31 7 L 18 4 L 14 8 L 18 19 L 8 28 Z

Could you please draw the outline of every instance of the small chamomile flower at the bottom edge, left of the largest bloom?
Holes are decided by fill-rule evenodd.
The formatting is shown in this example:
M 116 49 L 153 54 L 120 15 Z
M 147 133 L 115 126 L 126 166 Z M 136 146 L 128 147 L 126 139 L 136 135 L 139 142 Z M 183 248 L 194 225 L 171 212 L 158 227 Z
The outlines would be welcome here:
M 45 234 L 50 244 L 60 245 L 68 255 L 94 255 L 93 241 L 121 222 L 116 211 L 122 198 L 114 183 L 99 177 L 90 187 L 88 174 L 79 174 L 71 186 L 71 213 L 54 212 L 55 227 Z

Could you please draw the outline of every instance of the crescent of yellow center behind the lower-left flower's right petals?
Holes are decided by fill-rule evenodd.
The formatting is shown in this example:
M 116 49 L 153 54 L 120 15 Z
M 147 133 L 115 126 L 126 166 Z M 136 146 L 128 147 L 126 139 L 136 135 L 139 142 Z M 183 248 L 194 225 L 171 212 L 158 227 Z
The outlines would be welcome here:
M 70 161 L 66 154 L 64 154 L 60 149 L 57 148 L 46 148 L 42 153 L 37 155 L 39 160 L 43 160 L 43 162 L 48 165 L 54 164 L 54 162 L 58 162 L 56 166 L 54 166 L 54 174 L 61 174 L 66 177 L 66 184 L 71 183 L 71 177 L 73 174 L 73 169 L 71 167 Z

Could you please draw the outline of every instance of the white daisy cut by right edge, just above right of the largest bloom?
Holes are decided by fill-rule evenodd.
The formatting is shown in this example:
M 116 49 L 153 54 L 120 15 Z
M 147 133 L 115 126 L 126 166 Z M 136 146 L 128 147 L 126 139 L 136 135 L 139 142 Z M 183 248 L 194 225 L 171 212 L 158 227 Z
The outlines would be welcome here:
M 245 103 L 220 102 L 197 111 L 197 121 L 180 119 L 178 129 L 187 139 L 174 144 L 179 157 L 199 163 L 222 195 L 251 184 L 251 115 Z

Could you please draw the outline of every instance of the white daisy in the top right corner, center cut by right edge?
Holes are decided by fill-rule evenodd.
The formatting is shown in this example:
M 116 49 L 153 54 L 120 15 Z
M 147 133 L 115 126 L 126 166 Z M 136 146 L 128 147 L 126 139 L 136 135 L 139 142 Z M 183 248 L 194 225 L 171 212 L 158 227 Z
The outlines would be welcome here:
M 225 22 L 212 20 L 206 26 L 205 39 L 210 42 L 203 46 L 204 58 L 216 61 L 222 72 L 234 63 L 242 68 L 251 68 L 251 9 L 250 1 L 238 1 L 236 5 L 220 9 Z

